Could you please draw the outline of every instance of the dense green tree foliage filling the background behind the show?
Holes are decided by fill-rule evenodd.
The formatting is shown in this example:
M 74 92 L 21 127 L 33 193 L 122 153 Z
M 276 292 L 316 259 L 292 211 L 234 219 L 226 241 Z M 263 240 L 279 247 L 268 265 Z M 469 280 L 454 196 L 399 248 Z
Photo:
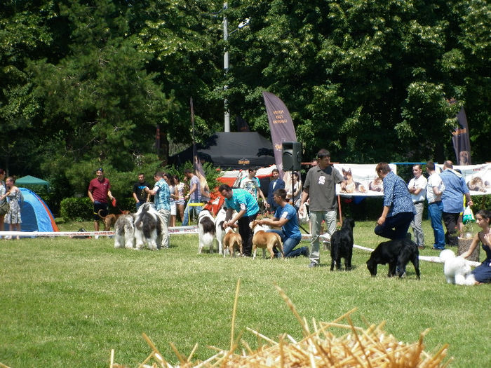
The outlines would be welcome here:
M 190 97 L 198 141 L 222 130 L 225 97 L 232 117 L 269 136 L 263 90 L 288 106 L 305 157 L 323 146 L 336 161 L 442 162 L 464 106 L 473 161 L 489 160 L 487 1 L 222 5 L 3 1 L 0 167 L 48 179 L 63 198 L 85 193 L 102 165 L 119 195 L 165 164 L 170 144 L 191 142 Z

